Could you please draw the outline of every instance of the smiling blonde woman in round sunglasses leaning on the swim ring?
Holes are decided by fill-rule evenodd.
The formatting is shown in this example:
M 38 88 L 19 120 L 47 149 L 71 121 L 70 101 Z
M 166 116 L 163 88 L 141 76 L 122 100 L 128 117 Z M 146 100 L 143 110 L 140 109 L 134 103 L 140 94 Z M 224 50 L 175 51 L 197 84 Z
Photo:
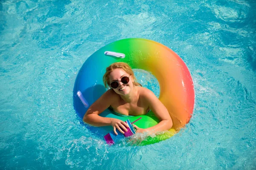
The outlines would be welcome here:
M 110 86 L 111 89 L 106 91 L 96 102 L 94 102 L 87 112 L 84 114 L 83 121 L 93 126 L 113 126 L 114 133 L 117 135 L 116 129 L 121 133 L 127 131 L 129 127 L 125 122 L 99 116 L 107 108 L 123 115 L 139 116 L 145 115 L 149 110 L 157 116 L 160 122 L 147 129 L 136 127 L 137 133 L 145 131 L 163 131 L 172 128 L 172 118 L 166 107 L 147 88 L 139 87 L 136 82 L 131 67 L 125 62 L 115 62 L 106 68 L 103 76 L 104 85 Z M 141 86 L 141 85 L 140 85 Z

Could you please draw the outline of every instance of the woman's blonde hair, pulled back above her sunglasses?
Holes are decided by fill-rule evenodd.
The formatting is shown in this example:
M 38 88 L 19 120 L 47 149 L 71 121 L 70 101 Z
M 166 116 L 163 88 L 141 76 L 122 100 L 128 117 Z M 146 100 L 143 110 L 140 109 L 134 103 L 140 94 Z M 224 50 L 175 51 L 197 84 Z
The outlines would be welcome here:
M 138 83 L 136 81 L 136 78 L 134 76 L 134 72 L 131 69 L 131 66 L 126 64 L 125 62 L 114 62 L 113 64 L 111 64 L 110 66 L 108 66 L 106 68 L 106 73 L 103 76 L 103 83 L 105 85 L 106 88 L 108 88 L 108 86 L 110 86 L 110 82 L 109 82 L 109 74 L 116 68 L 122 68 L 126 73 L 128 73 L 130 76 L 132 76 L 134 78 L 134 82 L 133 84 L 135 86 L 142 86 L 140 83 Z

